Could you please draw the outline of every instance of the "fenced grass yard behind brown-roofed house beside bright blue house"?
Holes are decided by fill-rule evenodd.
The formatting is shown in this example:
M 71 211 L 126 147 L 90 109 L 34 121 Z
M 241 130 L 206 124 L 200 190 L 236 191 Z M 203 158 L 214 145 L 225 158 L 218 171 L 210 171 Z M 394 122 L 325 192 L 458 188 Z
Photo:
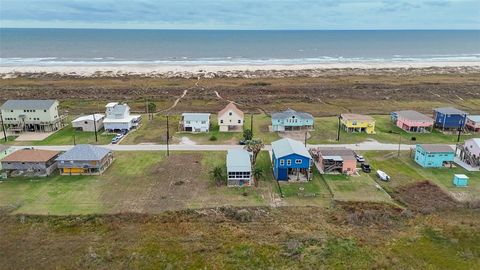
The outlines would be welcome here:
M 337 201 L 393 203 L 385 191 L 376 187 L 369 174 L 360 173 L 357 176 L 325 174 L 323 177 Z

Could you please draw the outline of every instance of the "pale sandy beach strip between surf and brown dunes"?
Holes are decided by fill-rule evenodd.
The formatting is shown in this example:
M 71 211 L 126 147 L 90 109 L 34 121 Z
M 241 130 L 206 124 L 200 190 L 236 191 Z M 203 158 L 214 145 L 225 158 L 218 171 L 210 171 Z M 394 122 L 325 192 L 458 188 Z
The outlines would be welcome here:
M 430 69 L 432 72 L 477 72 L 480 62 L 352 62 L 295 65 L 46 65 L 0 66 L 0 77 L 15 78 L 32 75 L 58 75 L 72 77 L 291 77 L 315 76 L 320 71 L 331 70 L 399 70 Z M 271 72 L 268 72 L 271 71 Z M 280 72 L 280 75 L 279 75 Z M 271 76 L 269 76 L 269 74 Z M 258 75 L 258 76 L 257 76 Z

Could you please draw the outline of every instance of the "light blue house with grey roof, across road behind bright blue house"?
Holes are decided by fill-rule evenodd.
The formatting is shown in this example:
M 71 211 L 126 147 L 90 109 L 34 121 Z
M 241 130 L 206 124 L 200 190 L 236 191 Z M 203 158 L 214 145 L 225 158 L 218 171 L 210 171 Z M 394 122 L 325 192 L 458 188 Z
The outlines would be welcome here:
M 314 121 L 313 116 L 309 113 L 287 109 L 283 112 L 272 114 L 272 130 L 293 131 L 313 129 Z

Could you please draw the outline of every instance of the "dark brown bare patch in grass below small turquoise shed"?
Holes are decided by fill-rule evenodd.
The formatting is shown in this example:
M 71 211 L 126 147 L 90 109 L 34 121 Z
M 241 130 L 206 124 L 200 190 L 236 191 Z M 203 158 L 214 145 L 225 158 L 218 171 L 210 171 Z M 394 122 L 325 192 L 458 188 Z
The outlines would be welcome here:
M 429 181 L 401 187 L 393 195 L 409 209 L 424 214 L 461 206 L 459 202 Z

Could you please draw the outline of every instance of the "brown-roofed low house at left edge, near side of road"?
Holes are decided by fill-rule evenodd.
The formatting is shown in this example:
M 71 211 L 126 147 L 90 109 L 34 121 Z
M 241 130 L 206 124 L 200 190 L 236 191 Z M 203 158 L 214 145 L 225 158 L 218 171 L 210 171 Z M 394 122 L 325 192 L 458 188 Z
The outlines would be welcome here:
M 11 176 L 48 176 L 57 168 L 55 159 L 59 154 L 49 150 L 17 150 L 2 159 L 2 169 Z

